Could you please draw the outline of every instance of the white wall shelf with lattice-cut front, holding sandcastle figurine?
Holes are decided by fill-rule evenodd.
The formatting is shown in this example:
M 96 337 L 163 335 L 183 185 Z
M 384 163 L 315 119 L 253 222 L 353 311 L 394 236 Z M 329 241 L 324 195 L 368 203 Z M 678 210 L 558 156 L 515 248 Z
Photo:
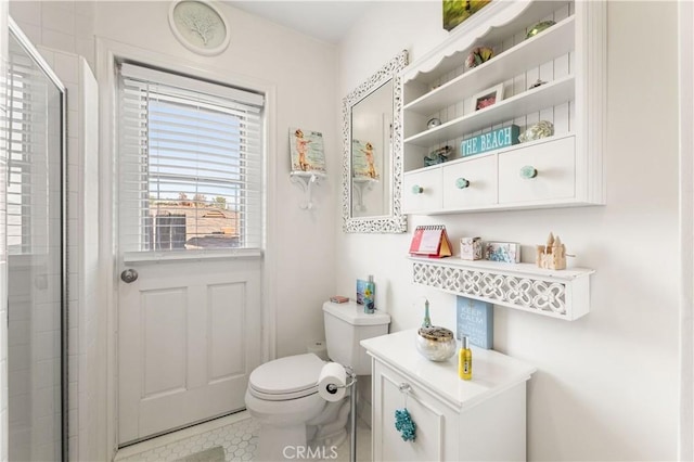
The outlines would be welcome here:
M 590 269 L 543 270 L 529 264 L 412 260 L 412 280 L 455 295 L 573 321 L 590 310 Z

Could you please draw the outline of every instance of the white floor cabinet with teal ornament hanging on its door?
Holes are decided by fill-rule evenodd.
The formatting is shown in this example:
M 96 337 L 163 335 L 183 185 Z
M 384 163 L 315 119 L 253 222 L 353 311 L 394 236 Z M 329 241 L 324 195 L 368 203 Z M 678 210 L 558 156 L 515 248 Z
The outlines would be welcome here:
M 457 355 L 428 361 L 415 337 L 402 331 L 361 342 L 373 365 L 373 460 L 525 460 L 526 382 L 536 369 L 473 347 L 473 380 L 462 381 Z M 395 411 L 406 406 L 414 441 L 395 428 Z

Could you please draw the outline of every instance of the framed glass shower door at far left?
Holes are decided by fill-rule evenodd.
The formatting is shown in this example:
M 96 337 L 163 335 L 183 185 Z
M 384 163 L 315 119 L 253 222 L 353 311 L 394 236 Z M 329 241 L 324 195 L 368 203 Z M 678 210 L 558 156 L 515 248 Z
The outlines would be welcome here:
M 67 460 L 65 88 L 11 22 L 7 251 L 9 459 Z

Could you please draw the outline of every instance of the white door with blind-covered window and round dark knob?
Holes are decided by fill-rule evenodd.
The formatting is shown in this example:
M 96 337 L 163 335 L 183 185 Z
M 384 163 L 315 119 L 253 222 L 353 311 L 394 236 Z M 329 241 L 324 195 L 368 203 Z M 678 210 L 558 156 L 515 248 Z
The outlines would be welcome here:
M 261 358 L 264 97 L 117 65 L 118 441 L 244 406 Z

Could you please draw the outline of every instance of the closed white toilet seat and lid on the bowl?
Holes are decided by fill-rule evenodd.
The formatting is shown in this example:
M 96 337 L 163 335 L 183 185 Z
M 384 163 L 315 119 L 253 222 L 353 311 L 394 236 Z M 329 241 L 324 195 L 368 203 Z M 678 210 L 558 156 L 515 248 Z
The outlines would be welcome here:
M 318 393 L 318 376 L 325 363 L 313 354 L 287 356 L 256 368 L 248 392 L 259 399 L 285 401 Z

